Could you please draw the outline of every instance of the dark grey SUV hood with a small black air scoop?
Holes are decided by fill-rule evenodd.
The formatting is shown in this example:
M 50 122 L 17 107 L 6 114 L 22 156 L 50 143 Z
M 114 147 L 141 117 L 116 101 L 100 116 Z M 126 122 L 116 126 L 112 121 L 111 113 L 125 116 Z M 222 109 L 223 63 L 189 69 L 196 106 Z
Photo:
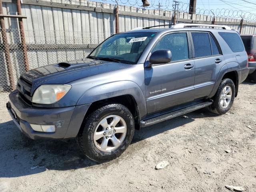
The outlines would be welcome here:
M 22 74 L 22 78 L 32 83 L 31 93 L 42 84 L 67 84 L 88 76 L 130 67 L 131 64 L 93 60 L 84 58 L 39 67 Z

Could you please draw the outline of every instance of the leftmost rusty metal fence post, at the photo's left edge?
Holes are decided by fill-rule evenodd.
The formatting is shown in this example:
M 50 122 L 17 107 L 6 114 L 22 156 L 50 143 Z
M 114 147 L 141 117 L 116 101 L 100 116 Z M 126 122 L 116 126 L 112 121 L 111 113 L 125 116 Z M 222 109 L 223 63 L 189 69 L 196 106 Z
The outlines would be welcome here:
M 4 46 L 4 55 L 5 55 L 6 66 L 7 66 L 7 71 L 8 71 L 9 81 L 10 81 L 10 87 L 12 90 L 14 90 L 15 86 L 14 86 L 14 79 L 13 79 L 13 74 L 12 74 L 12 63 L 11 63 L 11 59 L 10 59 L 10 50 L 9 50 L 7 36 L 6 36 L 4 16 L 1 16 L 1 15 L 3 15 L 2 0 L 0 0 L 0 26 L 1 26 L 1 33 L 2 33 L 3 46 Z

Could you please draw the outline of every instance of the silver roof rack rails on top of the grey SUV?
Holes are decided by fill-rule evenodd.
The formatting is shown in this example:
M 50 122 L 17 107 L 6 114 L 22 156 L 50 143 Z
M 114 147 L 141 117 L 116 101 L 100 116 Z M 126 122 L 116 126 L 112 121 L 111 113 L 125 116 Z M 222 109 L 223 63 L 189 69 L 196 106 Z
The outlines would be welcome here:
M 226 25 L 213 25 L 213 24 L 188 24 L 188 23 L 179 23 L 179 24 L 165 24 L 165 25 L 155 25 L 155 26 L 149 26 L 149 27 L 137 27 L 132 29 L 133 30 L 142 30 L 142 29 L 149 29 L 153 27 L 160 27 L 160 26 L 172 26 L 171 28 L 185 28 L 185 27 L 220 27 L 222 29 L 231 30 L 229 26 Z

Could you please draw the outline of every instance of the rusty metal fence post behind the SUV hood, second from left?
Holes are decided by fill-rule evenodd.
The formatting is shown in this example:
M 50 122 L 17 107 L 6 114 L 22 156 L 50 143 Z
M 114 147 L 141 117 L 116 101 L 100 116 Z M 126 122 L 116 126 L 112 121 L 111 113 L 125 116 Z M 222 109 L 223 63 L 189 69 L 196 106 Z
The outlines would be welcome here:
M 17 0 L 17 12 L 18 15 L 21 15 L 21 5 L 20 5 L 20 0 Z M 25 34 L 24 34 L 24 27 L 23 27 L 23 22 L 22 18 L 18 18 L 19 21 L 19 27 L 20 27 L 20 41 L 22 44 L 22 54 L 23 54 L 23 60 L 24 60 L 24 67 L 25 70 L 29 70 L 28 66 L 28 54 L 27 54 L 27 47 L 26 47 L 26 39 L 25 39 Z

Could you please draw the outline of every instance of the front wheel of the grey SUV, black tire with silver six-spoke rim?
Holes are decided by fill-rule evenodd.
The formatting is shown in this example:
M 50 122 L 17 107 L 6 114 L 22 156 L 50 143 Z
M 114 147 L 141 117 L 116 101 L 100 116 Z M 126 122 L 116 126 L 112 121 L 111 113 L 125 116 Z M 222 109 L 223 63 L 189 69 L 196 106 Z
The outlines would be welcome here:
M 122 104 L 114 103 L 102 106 L 88 115 L 76 141 L 88 158 L 105 162 L 120 156 L 131 143 L 133 135 L 134 118 L 130 110 Z

